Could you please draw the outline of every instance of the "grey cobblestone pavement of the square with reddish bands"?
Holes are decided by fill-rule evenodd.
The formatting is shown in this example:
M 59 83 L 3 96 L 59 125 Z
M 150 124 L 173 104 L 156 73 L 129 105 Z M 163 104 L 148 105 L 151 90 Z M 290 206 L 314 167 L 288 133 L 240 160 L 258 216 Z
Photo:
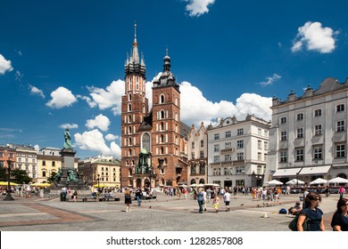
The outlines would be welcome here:
M 133 201 L 131 212 L 125 212 L 124 198 L 108 202 L 61 202 L 59 198 L 14 197 L 0 200 L 1 231 L 288 231 L 293 217 L 279 214 L 299 200 L 299 195 L 282 196 L 279 202 L 253 201 L 251 196 L 231 198 L 231 211 L 221 202 L 215 213 L 211 202 L 207 211 L 198 213 L 193 199 L 158 195 L 141 206 Z M 323 197 L 327 230 L 336 210 L 338 195 Z M 264 216 L 267 216 L 265 218 Z

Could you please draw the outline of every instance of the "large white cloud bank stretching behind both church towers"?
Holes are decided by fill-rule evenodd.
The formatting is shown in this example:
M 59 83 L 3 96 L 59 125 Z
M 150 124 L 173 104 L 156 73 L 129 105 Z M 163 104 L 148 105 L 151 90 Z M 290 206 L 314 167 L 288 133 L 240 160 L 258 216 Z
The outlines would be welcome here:
M 158 74 L 157 76 L 153 77 L 153 80 L 160 76 L 162 73 Z M 273 81 L 275 81 L 277 78 L 280 78 L 277 74 L 274 74 L 272 77 Z M 117 84 L 117 85 L 116 85 Z M 215 120 L 217 117 L 228 117 L 228 116 L 236 116 L 239 118 L 244 118 L 246 114 L 254 114 L 255 116 L 261 117 L 268 121 L 271 116 L 271 98 L 262 97 L 257 94 L 253 93 L 244 93 L 237 99 L 237 104 L 234 105 L 233 102 L 228 100 L 220 100 L 219 102 L 212 102 L 211 100 L 207 100 L 203 96 L 203 92 L 199 90 L 194 85 L 183 82 L 180 85 L 180 92 L 181 92 L 181 120 L 186 123 L 187 125 L 191 124 L 201 124 L 201 122 L 204 122 L 204 124 L 210 124 L 212 120 Z M 152 108 L 152 100 L 153 100 L 153 81 L 146 82 L 145 88 L 146 88 L 146 98 L 149 100 L 149 109 Z M 91 88 L 92 89 L 92 88 Z M 96 90 L 96 88 L 93 88 Z M 124 94 L 124 81 L 117 80 L 113 81 L 111 85 L 109 85 L 107 88 L 107 91 L 104 89 L 97 89 L 96 92 L 98 92 L 97 95 L 94 96 L 95 100 L 100 100 L 98 102 L 95 102 L 95 100 L 91 100 L 91 103 L 95 103 L 95 106 L 101 107 L 101 103 L 106 103 L 111 101 L 109 100 L 113 96 L 115 99 L 112 100 L 112 103 L 110 105 L 103 105 L 103 108 L 112 108 L 114 110 L 114 115 L 120 115 L 120 102 L 121 102 L 121 95 Z M 114 91 L 121 92 L 116 94 L 112 93 Z M 96 94 L 96 92 L 94 92 Z M 97 98 L 96 98 L 97 96 Z M 251 100 L 248 100 L 247 98 L 251 98 Z M 89 99 L 86 97 L 86 99 Z M 90 99 L 89 99 L 90 100 Z M 103 101 L 102 101 L 103 100 Z M 96 104 L 98 103 L 98 104 Z M 117 103 L 117 104 L 116 104 Z M 90 107 L 91 104 L 89 104 Z M 261 108 L 262 107 L 262 108 Z M 265 108 L 265 109 L 263 109 Z M 97 125 L 91 126 L 91 128 L 98 127 Z M 100 127 L 99 127 L 100 128 Z

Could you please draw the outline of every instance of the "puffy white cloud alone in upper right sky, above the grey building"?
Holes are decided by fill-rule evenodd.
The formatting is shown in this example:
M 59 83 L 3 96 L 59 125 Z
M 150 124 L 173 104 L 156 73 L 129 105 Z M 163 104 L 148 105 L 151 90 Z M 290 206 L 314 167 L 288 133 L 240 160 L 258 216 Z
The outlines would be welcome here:
M 307 21 L 302 27 L 298 28 L 298 34 L 294 39 L 292 52 L 298 52 L 302 47 L 310 51 L 321 53 L 333 52 L 335 50 L 335 36 L 338 31 L 332 28 L 322 28 L 321 23 Z

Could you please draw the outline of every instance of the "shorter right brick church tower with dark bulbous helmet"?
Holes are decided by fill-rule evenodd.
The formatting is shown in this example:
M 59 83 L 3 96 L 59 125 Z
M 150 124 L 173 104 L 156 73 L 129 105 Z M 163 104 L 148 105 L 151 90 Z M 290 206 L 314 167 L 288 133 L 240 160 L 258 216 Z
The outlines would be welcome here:
M 168 50 L 163 59 L 163 72 L 153 82 L 153 167 L 159 176 L 160 185 L 176 186 L 182 176 L 180 163 L 180 91 L 175 77 L 170 72 Z

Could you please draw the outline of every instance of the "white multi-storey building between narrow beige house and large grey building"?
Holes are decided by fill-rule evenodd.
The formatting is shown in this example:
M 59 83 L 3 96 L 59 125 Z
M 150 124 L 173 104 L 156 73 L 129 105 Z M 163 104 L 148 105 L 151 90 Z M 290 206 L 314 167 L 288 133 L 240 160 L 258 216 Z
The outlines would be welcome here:
M 220 187 L 261 186 L 269 149 L 269 122 L 236 116 L 208 126 L 208 181 Z

